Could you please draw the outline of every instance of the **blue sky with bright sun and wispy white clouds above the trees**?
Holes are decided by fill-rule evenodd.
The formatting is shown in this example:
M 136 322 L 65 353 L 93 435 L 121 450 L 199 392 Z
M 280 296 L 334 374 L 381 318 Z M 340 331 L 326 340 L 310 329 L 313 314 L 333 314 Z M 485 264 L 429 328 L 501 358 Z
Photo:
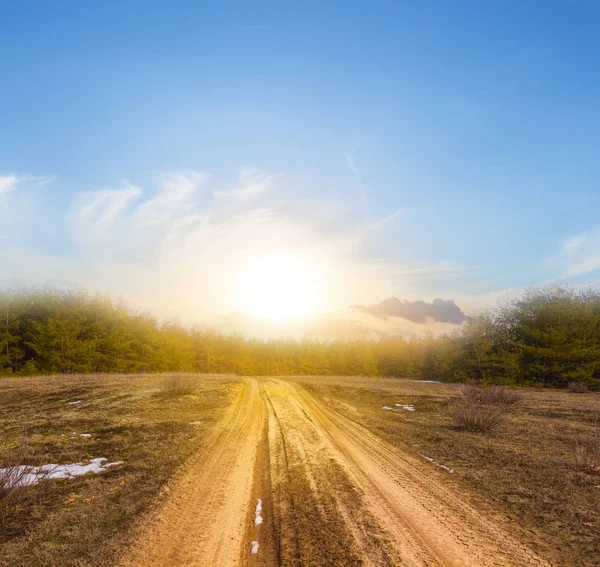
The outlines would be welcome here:
M 0 287 L 352 336 L 398 330 L 351 307 L 390 297 L 469 315 L 600 285 L 594 0 L 19 0 L 0 21 Z

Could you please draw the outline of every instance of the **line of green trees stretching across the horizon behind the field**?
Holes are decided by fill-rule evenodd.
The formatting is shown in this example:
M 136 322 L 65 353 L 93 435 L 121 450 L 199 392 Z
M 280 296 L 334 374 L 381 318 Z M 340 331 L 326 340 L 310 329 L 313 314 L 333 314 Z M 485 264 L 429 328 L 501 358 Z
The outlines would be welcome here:
M 323 342 L 159 322 L 104 295 L 0 293 L 0 375 L 223 372 L 382 375 L 600 389 L 600 293 L 534 288 L 449 335 Z

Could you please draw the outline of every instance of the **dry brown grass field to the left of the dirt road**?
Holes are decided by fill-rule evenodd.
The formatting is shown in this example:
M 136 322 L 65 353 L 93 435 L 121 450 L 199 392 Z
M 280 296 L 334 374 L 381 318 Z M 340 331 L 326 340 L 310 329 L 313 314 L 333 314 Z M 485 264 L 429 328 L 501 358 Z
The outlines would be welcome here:
M 0 468 L 124 461 L 101 474 L 28 487 L 15 486 L 14 473 L 7 474 L 0 491 L 2 567 L 118 562 L 136 519 L 177 466 L 202 448 L 238 387 L 233 377 L 196 377 L 195 394 L 169 398 L 158 395 L 164 378 L 0 380 Z

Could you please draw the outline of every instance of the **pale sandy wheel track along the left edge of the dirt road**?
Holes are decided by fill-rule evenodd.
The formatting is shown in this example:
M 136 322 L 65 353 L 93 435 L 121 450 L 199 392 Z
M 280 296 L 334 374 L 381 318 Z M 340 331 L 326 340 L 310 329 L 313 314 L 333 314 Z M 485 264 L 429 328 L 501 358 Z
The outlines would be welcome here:
M 169 482 L 166 501 L 141 530 L 123 567 L 239 565 L 262 408 L 258 382 L 242 382 L 206 450 Z

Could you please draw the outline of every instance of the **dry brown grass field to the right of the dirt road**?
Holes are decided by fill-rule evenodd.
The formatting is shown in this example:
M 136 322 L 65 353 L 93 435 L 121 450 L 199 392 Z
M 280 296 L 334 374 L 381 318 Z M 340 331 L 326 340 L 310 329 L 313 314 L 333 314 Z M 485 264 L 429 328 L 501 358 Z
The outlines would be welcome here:
M 430 467 L 429 474 L 466 489 L 475 504 L 509 522 L 554 565 L 597 567 L 600 472 L 589 464 L 575 466 L 574 452 L 580 439 L 582 462 L 595 462 L 591 441 L 600 394 L 518 390 L 519 404 L 489 406 L 507 409 L 501 428 L 471 435 L 453 426 L 459 395 L 452 385 L 393 378 L 297 379 L 331 407 L 415 457 L 428 455 L 454 469 L 448 475 Z M 416 411 L 382 411 L 394 403 L 413 404 Z

